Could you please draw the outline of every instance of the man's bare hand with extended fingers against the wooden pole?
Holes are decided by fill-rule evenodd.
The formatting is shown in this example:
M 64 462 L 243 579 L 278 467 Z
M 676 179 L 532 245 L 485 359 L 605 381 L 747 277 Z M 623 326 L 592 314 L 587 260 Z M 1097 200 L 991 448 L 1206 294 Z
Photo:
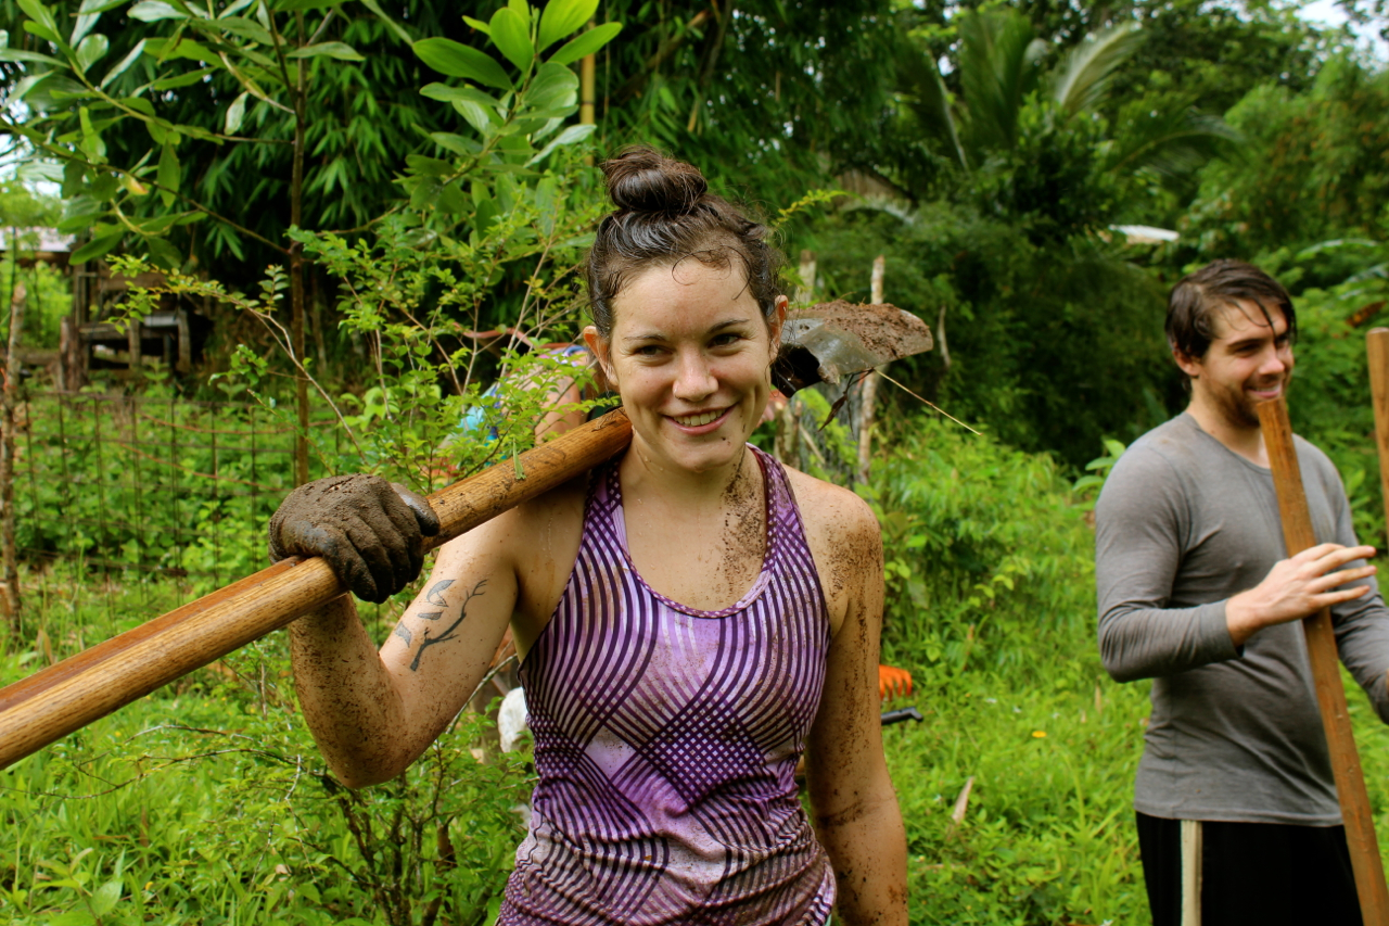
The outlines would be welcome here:
M 1231 641 L 1243 647 L 1264 627 L 1311 617 L 1322 608 L 1360 598 L 1370 591 L 1368 585 L 1339 590 L 1338 585 L 1374 576 L 1375 567 L 1340 567 L 1374 553 L 1374 546 L 1320 544 L 1279 560 L 1268 570 L 1264 581 L 1225 602 L 1225 626 L 1229 627 Z

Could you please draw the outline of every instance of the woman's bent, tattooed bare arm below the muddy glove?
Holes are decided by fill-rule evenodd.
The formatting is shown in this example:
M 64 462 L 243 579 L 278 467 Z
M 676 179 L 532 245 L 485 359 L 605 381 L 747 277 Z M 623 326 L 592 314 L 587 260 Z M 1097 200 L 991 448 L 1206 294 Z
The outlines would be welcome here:
M 488 672 L 517 601 L 510 514 L 440 548 L 379 653 L 350 595 L 290 624 L 304 720 L 349 787 L 404 772 Z

